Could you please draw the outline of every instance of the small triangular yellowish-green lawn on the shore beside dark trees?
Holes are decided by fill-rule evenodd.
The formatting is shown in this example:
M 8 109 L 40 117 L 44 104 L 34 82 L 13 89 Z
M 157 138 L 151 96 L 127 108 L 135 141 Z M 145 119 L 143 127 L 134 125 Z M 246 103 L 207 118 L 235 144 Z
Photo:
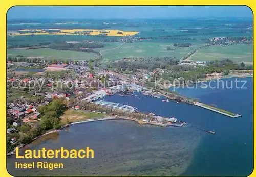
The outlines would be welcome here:
M 95 119 L 103 117 L 105 114 L 93 113 L 93 112 L 84 112 L 81 110 L 73 110 L 72 108 L 68 109 L 64 112 L 64 115 L 61 116 L 61 124 L 65 125 L 67 122 L 67 118 L 69 122 L 80 122 L 87 119 Z

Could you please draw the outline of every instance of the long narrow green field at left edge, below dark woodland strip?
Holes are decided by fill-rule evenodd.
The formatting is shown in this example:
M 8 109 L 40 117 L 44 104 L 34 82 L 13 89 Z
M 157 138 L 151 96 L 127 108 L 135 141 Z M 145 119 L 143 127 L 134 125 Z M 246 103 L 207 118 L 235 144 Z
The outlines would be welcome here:
M 7 56 L 15 57 L 17 55 L 23 55 L 24 57 L 40 57 L 47 60 L 90 60 L 97 58 L 93 53 L 67 51 L 67 50 L 55 50 L 50 48 L 39 48 L 30 50 L 14 50 L 8 49 Z

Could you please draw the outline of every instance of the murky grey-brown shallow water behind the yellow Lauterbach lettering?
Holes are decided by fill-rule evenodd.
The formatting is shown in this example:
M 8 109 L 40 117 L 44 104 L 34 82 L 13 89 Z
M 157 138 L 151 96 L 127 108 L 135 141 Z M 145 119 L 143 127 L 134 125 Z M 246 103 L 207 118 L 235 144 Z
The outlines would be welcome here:
M 10 157 L 8 170 L 12 175 L 179 175 L 192 160 L 201 135 L 201 131 L 191 127 L 161 128 L 129 120 L 74 124 L 68 130 L 37 140 L 29 148 L 85 149 L 89 146 L 94 150 L 93 159 L 38 159 L 63 163 L 64 169 L 49 171 L 14 170 L 16 161 L 37 160 Z

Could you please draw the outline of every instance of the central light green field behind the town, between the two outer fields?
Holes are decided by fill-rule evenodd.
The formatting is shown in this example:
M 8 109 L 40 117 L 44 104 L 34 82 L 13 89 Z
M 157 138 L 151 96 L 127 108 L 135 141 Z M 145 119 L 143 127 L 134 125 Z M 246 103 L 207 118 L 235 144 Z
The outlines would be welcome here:
M 119 43 L 120 44 L 120 43 Z M 113 49 L 102 51 L 101 54 L 104 57 L 103 62 L 120 60 L 122 58 L 133 57 L 162 57 L 162 56 L 174 56 L 176 59 L 180 59 L 189 53 L 191 50 L 204 45 L 196 44 L 190 47 L 178 48 L 176 50 L 167 50 L 167 46 L 173 47 L 173 43 L 157 43 L 157 42 L 136 42 L 136 43 L 124 43 L 119 48 L 115 48 L 118 45 L 113 45 Z M 108 48 L 111 48 L 108 46 Z

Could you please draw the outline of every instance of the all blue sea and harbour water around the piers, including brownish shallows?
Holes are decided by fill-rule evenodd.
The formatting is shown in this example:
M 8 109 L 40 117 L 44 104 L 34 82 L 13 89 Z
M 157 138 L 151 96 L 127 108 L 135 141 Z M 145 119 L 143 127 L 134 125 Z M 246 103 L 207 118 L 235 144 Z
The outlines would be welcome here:
M 235 78 L 225 79 L 228 83 Z M 71 125 L 69 130 L 48 135 L 30 145 L 32 149 L 79 149 L 89 146 L 94 159 L 51 159 L 64 169 L 15 170 L 12 175 L 195 175 L 246 176 L 253 169 L 253 79 L 247 89 L 178 89 L 181 94 L 242 115 L 229 118 L 185 103 L 162 102 L 143 96 L 106 96 L 105 100 L 136 106 L 142 112 L 175 116 L 188 125 L 161 128 L 127 120 L 109 120 Z M 193 127 L 215 130 L 212 135 Z M 53 137 L 52 137 L 53 136 Z M 22 160 L 23 162 L 27 160 Z M 30 160 L 35 161 L 35 160 Z

